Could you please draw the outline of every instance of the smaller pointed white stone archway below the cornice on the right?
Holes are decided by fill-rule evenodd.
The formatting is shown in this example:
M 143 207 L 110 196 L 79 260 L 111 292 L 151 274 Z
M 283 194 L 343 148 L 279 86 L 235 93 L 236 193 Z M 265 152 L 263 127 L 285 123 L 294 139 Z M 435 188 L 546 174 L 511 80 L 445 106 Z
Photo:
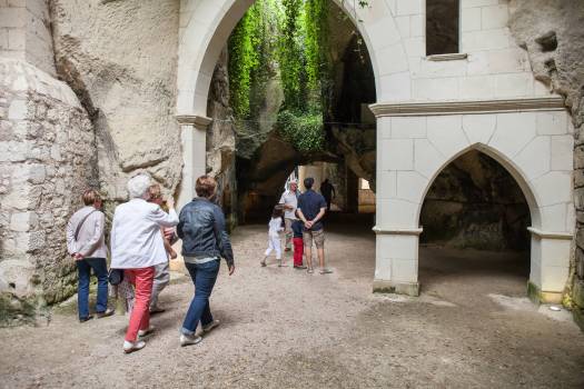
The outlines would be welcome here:
M 567 113 L 561 104 L 537 101 L 522 109 L 517 101 L 465 109 L 451 102 L 437 114 L 435 104 L 415 104 L 409 113 L 374 107 L 382 127 L 378 147 L 377 266 L 375 288 L 419 292 L 419 215 L 438 173 L 476 149 L 499 162 L 516 180 L 529 206 L 534 298 L 557 301 L 567 280 L 573 236 L 572 146 Z M 417 112 L 416 112 L 417 110 Z M 464 112 L 464 114 L 462 113 Z M 554 126 L 551 126 L 554 123 Z

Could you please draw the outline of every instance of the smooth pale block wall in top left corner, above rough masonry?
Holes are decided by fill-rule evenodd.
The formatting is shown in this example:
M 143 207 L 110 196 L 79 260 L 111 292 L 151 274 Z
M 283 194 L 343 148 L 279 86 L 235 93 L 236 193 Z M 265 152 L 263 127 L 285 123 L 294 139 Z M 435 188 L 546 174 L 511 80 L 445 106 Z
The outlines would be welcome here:
M 0 0 L 0 57 L 55 76 L 48 0 Z

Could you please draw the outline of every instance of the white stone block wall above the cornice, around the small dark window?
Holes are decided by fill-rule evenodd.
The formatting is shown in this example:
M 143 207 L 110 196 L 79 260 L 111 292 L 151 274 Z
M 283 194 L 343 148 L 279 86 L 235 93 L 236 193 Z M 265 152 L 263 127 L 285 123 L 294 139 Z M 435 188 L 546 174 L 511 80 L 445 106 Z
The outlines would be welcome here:
M 459 100 L 548 94 L 533 78 L 525 50 L 511 36 L 507 0 L 461 0 L 459 52 L 466 59 L 426 58 L 425 0 L 387 1 L 400 41 L 379 52 L 379 76 L 400 100 Z M 405 51 L 405 58 L 404 58 Z M 385 99 L 382 97 L 380 101 Z M 389 100 L 389 99 L 387 99 Z

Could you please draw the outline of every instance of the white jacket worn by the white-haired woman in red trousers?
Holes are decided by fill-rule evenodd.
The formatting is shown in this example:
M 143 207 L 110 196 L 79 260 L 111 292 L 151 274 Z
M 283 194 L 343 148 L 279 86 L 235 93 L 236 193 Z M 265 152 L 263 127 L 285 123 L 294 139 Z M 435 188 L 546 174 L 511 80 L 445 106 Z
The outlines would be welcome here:
M 178 225 L 177 212 L 131 199 L 116 208 L 111 226 L 111 268 L 142 269 L 168 260 L 160 227 Z

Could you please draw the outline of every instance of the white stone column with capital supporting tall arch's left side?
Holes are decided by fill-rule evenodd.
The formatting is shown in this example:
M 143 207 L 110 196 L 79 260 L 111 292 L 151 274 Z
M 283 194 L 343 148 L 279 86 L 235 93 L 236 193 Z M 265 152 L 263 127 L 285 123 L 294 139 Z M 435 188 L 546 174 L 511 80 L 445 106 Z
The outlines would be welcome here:
M 178 194 L 178 208 L 195 196 L 197 178 L 207 172 L 207 127 L 212 119 L 196 114 L 178 114 L 182 146 L 182 181 Z

